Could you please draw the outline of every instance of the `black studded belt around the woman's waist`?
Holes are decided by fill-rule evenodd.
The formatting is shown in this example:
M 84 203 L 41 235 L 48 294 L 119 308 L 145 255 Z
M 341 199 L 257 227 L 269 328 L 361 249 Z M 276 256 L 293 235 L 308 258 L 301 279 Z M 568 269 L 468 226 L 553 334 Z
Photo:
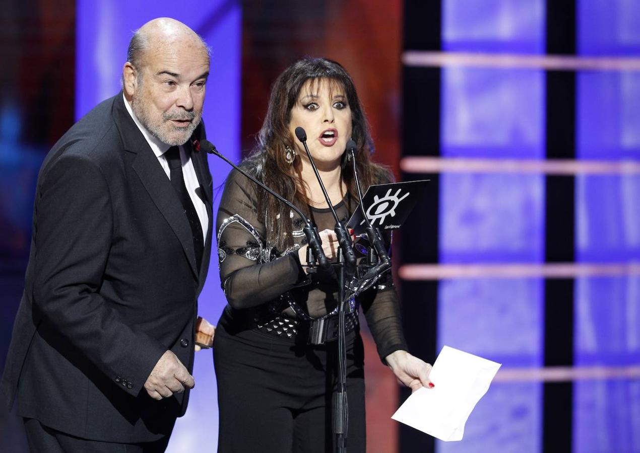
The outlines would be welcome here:
M 254 318 L 255 327 L 260 332 L 277 337 L 292 339 L 307 344 L 324 344 L 338 338 L 338 314 L 327 318 L 303 319 L 287 318 L 278 314 L 273 319 L 262 321 Z M 344 331 L 346 334 L 358 326 L 358 311 L 346 313 L 344 316 Z

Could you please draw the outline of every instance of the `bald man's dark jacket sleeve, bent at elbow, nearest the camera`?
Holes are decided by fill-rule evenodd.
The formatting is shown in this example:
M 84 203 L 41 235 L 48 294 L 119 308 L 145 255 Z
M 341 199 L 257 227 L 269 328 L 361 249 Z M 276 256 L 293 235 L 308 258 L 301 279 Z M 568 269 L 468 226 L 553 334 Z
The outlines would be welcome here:
M 106 178 L 89 157 L 65 153 L 36 194 L 34 311 L 111 380 L 137 395 L 166 348 L 129 325 L 100 295 L 113 234 Z

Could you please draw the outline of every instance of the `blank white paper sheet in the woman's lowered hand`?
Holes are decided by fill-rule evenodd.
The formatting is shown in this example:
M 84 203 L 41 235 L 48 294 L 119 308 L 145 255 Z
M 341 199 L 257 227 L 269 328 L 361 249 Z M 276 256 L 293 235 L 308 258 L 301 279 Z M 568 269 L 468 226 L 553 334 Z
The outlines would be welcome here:
M 429 378 L 391 417 L 440 440 L 461 440 L 465 423 L 501 364 L 444 346 Z

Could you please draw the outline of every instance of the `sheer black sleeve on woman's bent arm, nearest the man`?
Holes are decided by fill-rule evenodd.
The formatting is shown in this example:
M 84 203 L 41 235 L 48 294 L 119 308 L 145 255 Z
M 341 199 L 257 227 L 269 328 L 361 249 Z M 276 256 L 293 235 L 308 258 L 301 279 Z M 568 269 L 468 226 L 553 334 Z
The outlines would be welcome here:
M 253 183 L 236 170 L 227 178 L 216 229 L 220 281 L 234 309 L 269 302 L 306 280 L 298 254 L 269 261 L 264 215 L 257 212 Z

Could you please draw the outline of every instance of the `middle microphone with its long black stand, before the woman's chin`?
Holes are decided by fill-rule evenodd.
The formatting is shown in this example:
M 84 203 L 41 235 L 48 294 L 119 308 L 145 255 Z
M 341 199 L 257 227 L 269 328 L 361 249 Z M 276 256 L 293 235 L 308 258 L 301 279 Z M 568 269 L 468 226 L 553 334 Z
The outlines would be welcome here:
M 314 158 L 311 156 L 309 148 L 307 146 L 307 133 L 301 127 L 296 127 L 296 137 L 305 147 L 307 157 L 311 162 L 311 167 L 314 169 L 316 179 L 322 189 L 326 204 L 329 206 L 333 219 L 335 220 L 335 234 L 338 238 L 339 253 L 337 263 L 338 274 L 338 391 L 333 395 L 333 432 L 335 433 L 336 445 L 339 453 L 346 452 L 346 438 L 349 423 L 349 412 L 347 404 L 347 378 L 346 378 L 346 334 L 345 334 L 345 286 L 344 277 L 345 270 L 349 276 L 353 276 L 356 269 L 356 256 L 353 252 L 353 246 L 351 245 L 351 234 L 346 231 L 346 227 L 342 224 L 338 215 L 333 209 L 333 203 L 329 198 L 329 195 L 324 188 L 324 183 L 320 174 L 317 171 Z

